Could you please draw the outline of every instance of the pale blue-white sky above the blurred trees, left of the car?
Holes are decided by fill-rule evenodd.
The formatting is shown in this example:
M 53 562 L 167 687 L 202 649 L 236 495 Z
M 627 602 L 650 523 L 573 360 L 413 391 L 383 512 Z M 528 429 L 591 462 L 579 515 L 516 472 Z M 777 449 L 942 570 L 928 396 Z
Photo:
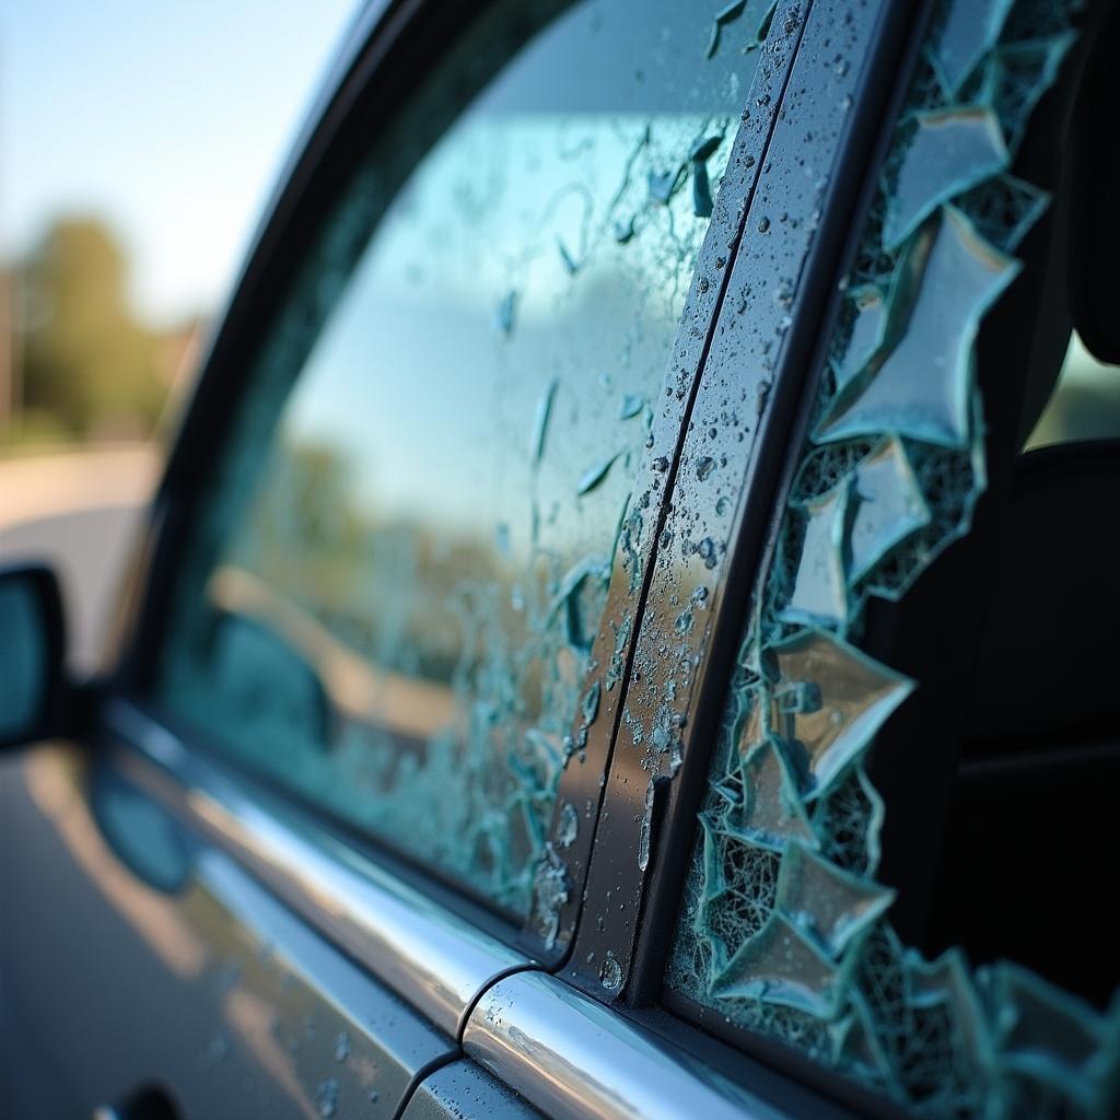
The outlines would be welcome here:
M 11 0 L 0 255 L 63 213 L 123 237 L 138 309 L 221 304 L 358 0 Z

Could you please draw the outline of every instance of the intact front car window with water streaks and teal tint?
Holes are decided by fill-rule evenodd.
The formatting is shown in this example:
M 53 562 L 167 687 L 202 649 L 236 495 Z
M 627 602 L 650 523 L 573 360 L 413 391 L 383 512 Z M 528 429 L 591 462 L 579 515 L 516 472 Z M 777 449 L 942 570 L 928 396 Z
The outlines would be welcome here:
M 327 218 L 212 470 L 157 687 L 513 914 L 595 718 L 588 652 L 766 8 L 558 7 L 461 37 Z

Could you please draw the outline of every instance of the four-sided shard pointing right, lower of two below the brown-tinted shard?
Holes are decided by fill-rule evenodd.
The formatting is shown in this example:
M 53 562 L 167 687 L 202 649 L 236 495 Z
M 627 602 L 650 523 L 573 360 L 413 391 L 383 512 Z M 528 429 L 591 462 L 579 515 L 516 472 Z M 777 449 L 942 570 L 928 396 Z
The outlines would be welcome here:
M 895 893 L 792 843 L 777 878 L 776 906 L 833 960 L 894 902 Z

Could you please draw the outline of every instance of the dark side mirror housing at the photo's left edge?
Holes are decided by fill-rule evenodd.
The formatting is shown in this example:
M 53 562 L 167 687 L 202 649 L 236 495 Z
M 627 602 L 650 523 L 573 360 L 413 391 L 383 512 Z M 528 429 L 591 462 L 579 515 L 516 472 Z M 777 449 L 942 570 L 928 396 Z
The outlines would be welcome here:
M 0 568 L 0 747 L 55 732 L 65 697 L 66 628 L 54 571 Z

